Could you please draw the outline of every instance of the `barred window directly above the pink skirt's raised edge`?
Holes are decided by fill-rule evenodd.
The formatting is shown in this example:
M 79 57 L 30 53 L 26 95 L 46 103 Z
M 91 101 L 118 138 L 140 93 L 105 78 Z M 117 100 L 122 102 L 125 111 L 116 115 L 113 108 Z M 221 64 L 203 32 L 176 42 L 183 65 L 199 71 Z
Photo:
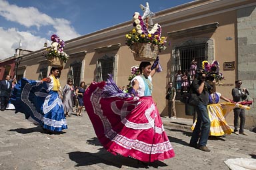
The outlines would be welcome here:
M 100 58 L 97 61 L 97 74 L 96 74 L 96 81 L 107 81 L 107 78 L 109 77 L 108 74 L 114 74 L 113 68 L 114 68 L 114 62 L 115 57 L 113 56 L 103 56 L 103 58 Z M 114 75 L 113 75 L 114 76 Z

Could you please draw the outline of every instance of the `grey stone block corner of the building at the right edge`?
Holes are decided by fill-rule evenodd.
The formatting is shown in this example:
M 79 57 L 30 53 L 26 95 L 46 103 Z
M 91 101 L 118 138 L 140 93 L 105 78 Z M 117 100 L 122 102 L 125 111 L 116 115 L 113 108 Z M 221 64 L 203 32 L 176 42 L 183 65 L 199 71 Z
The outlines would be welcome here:
M 256 94 L 256 6 L 237 10 L 237 77 L 249 91 L 249 100 Z M 256 127 L 256 105 L 246 111 L 245 128 Z

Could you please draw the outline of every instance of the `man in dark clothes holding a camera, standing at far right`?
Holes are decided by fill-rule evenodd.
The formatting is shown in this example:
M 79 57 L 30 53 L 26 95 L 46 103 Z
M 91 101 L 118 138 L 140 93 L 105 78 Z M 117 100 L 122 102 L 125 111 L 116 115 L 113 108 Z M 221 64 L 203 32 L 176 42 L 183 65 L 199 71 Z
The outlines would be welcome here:
M 232 89 L 232 96 L 234 102 L 242 102 L 247 98 L 247 95 L 249 95 L 249 92 L 246 88 L 241 89 L 242 81 L 241 80 L 235 80 L 235 88 Z M 245 110 L 241 108 L 235 108 L 234 111 L 234 133 L 236 135 L 242 134 L 247 135 L 243 131 L 243 128 L 245 127 Z M 237 133 L 238 128 L 238 116 L 240 117 L 240 128 L 239 133 Z

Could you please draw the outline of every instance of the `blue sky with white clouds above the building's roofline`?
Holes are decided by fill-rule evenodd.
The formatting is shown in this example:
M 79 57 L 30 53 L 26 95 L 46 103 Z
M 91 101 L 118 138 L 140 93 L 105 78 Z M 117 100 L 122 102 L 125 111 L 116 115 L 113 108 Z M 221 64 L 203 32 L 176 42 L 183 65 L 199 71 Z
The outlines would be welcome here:
M 153 13 L 193 0 L 0 0 L 0 60 L 15 49 L 39 50 L 55 34 L 63 41 L 131 21 L 146 6 Z M 125 37 L 124 37 L 125 38 Z M 21 43 L 20 43 L 21 42 Z

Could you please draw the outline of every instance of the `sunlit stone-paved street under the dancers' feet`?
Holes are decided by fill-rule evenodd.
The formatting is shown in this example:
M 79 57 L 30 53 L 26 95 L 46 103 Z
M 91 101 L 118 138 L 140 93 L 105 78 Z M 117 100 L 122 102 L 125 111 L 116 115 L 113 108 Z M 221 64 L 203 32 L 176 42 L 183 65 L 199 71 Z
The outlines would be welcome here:
M 0 112 L 0 169 L 229 169 L 224 161 L 256 157 L 256 133 L 209 137 L 211 152 L 189 147 L 192 120 L 162 118 L 175 157 L 149 166 L 103 149 L 83 112 L 67 118 L 65 133 L 49 135 L 21 113 Z

